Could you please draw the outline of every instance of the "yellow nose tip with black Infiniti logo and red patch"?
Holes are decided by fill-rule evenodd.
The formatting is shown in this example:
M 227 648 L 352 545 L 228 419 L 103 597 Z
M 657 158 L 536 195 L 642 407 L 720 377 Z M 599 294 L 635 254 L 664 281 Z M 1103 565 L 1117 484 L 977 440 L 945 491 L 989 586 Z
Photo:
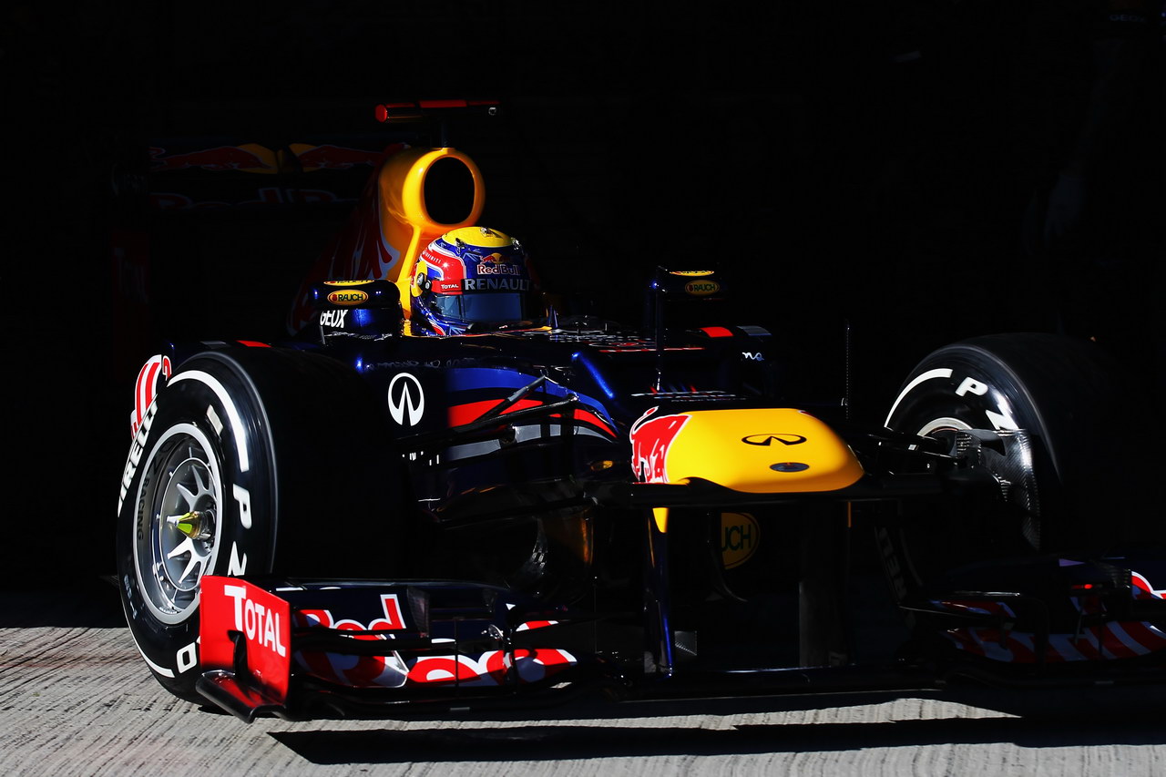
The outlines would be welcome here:
M 823 421 L 793 408 L 649 411 L 632 427 L 633 468 L 649 483 L 700 477 L 735 491 L 835 491 L 863 468 Z

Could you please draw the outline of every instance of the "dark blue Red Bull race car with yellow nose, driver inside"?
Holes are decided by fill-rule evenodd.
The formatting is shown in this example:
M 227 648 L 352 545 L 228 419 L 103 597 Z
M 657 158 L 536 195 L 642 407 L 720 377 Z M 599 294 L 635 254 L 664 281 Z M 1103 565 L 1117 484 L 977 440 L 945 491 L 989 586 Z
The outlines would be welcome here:
M 641 328 L 566 317 L 482 202 L 466 155 L 401 147 L 287 342 L 142 369 L 118 581 L 170 692 L 250 721 L 1161 681 L 1145 441 L 1096 344 L 979 337 L 885 425 L 812 414 L 715 265 L 661 260 Z

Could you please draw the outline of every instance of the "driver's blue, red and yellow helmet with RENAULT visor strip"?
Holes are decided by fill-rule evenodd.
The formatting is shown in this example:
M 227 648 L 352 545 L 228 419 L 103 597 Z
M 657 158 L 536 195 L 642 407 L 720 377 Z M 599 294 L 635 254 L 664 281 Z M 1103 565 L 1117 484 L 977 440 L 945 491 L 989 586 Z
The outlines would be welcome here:
M 547 318 L 526 251 L 485 226 L 456 229 L 426 246 L 409 300 L 413 331 L 421 335 L 531 329 Z

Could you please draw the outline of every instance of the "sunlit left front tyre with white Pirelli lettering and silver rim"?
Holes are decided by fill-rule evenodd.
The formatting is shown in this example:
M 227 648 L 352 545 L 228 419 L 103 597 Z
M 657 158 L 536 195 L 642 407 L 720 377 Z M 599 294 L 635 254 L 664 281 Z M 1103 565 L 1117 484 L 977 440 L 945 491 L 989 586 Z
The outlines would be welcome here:
M 188 359 L 145 413 L 118 504 L 118 581 L 157 680 L 202 701 L 204 574 L 385 576 L 401 467 L 346 366 L 280 349 Z M 377 542 L 378 538 L 384 541 Z

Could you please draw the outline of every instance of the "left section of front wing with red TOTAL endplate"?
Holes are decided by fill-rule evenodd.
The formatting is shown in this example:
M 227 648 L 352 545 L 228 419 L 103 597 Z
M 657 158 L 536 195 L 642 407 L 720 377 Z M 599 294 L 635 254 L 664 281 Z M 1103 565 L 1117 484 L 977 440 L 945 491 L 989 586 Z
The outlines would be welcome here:
M 250 722 L 297 718 L 311 701 L 344 710 L 547 690 L 586 676 L 619 681 L 560 637 L 562 608 L 454 581 L 202 581 L 197 688 Z

